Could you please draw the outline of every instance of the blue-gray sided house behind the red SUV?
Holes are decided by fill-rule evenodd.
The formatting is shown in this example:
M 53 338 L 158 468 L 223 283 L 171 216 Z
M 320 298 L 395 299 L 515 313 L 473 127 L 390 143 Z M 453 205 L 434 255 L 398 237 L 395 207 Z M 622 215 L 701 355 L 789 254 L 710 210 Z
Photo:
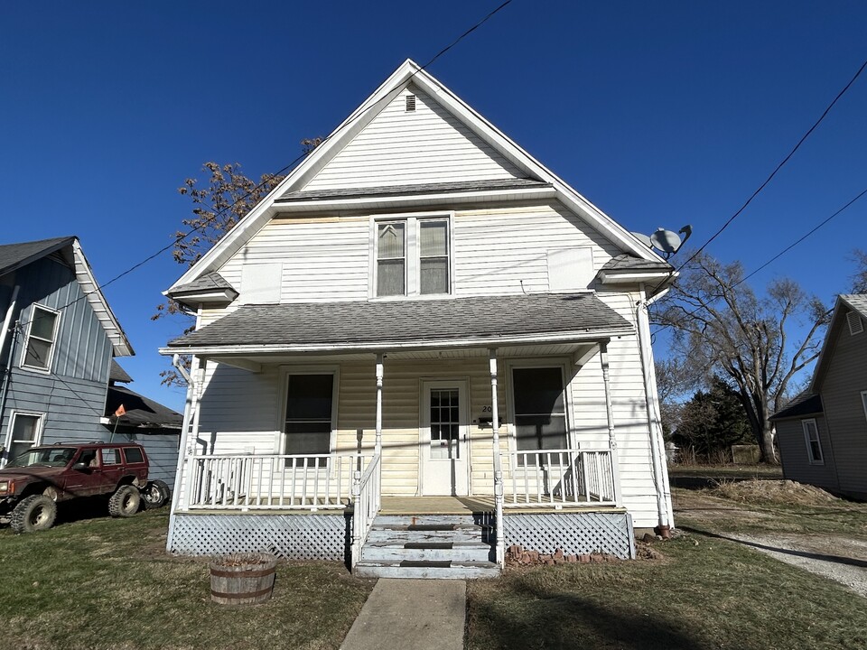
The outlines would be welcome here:
M 0 464 L 33 443 L 105 440 L 109 364 L 133 354 L 76 237 L 0 246 Z

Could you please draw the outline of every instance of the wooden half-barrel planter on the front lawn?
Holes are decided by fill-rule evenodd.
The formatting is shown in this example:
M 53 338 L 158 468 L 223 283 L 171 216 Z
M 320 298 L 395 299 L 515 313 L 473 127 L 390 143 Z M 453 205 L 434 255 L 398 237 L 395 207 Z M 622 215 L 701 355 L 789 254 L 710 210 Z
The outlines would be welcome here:
M 251 605 L 271 598 L 277 561 L 268 554 L 234 554 L 210 563 L 210 599 Z

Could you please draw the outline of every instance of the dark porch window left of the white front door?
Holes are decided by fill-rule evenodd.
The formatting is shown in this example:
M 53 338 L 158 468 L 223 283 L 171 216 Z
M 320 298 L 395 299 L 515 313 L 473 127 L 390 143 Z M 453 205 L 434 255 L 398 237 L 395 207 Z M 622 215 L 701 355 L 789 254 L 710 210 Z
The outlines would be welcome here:
M 285 453 L 319 455 L 331 452 L 333 375 L 290 375 L 286 395 Z M 287 460 L 287 465 L 294 461 Z M 325 459 L 317 460 L 320 466 Z

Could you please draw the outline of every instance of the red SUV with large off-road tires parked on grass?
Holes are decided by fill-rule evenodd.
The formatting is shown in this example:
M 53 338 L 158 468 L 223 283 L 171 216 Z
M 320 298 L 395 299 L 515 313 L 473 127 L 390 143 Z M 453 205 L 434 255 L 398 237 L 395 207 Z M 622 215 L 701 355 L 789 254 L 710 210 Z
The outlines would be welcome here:
M 144 448 L 135 443 L 61 442 L 32 447 L 0 469 L 0 515 L 9 517 L 16 533 L 33 533 L 51 528 L 60 501 L 110 495 L 110 515 L 132 516 L 138 512 L 142 493 L 148 503 L 152 494 L 159 497 L 163 491 L 154 484 L 165 485 L 149 484 L 147 470 Z M 163 503 L 164 498 L 159 505 Z

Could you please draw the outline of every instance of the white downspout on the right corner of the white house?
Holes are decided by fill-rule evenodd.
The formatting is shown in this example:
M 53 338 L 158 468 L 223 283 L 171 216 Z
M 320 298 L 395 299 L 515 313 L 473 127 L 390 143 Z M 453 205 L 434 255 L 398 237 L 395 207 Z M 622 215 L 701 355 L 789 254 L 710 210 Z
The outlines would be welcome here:
M 657 396 L 657 376 L 653 367 L 653 351 L 650 348 L 650 320 L 648 307 L 662 298 L 668 289 L 657 293 L 653 298 L 647 298 L 647 289 L 644 283 L 639 284 L 641 299 L 636 302 L 636 321 L 639 330 L 639 356 L 641 357 L 641 370 L 644 374 L 644 397 L 648 411 L 648 434 L 650 438 L 650 459 L 653 464 L 653 483 L 657 492 L 658 532 L 664 538 L 671 536 L 673 525 L 671 487 L 668 483 L 667 466 L 662 464 L 662 454 L 665 453 L 665 444 L 662 437 L 662 417 L 659 413 L 659 400 Z

